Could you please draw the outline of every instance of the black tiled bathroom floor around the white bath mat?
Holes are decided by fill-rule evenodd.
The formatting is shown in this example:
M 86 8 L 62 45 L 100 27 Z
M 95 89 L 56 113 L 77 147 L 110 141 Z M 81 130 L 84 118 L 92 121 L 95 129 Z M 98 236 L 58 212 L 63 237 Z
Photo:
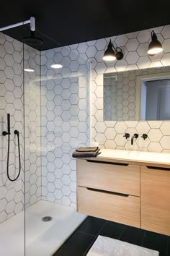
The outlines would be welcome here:
M 53 256 L 85 256 L 98 235 L 158 250 L 159 256 L 170 256 L 170 236 L 93 217 L 86 218 Z

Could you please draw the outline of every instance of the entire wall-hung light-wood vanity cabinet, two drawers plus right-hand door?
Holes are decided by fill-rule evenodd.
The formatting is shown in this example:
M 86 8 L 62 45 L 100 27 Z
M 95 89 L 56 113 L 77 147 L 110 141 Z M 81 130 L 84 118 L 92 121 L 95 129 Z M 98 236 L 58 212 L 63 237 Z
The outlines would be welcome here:
M 170 235 L 170 166 L 77 159 L 77 210 Z

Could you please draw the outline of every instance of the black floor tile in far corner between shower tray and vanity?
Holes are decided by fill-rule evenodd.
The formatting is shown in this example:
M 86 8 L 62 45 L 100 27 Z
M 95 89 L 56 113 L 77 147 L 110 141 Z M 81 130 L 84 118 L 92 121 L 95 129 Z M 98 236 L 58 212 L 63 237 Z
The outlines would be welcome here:
M 78 230 L 87 234 L 97 236 L 100 229 L 102 229 L 102 227 L 104 226 L 104 223 L 106 223 L 106 221 L 102 220 L 101 218 L 94 218 L 89 216 L 88 218 L 86 218 L 86 221 L 81 224 Z

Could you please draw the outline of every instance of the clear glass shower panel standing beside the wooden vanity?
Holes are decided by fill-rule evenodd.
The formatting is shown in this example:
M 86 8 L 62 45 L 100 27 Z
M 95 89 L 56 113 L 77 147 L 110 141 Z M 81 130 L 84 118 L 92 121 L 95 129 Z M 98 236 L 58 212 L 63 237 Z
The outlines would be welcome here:
M 89 64 L 57 46 L 24 45 L 26 256 L 52 255 L 86 218 L 72 153 L 89 145 Z

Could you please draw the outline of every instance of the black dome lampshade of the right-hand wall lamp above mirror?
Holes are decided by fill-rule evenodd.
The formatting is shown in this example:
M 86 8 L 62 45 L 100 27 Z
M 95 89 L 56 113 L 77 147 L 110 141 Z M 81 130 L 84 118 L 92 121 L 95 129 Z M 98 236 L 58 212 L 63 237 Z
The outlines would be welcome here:
M 158 41 L 156 33 L 152 30 L 151 32 L 151 43 L 148 47 L 148 55 L 154 56 L 155 54 L 161 53 L 163 51 L 161 43 Z

